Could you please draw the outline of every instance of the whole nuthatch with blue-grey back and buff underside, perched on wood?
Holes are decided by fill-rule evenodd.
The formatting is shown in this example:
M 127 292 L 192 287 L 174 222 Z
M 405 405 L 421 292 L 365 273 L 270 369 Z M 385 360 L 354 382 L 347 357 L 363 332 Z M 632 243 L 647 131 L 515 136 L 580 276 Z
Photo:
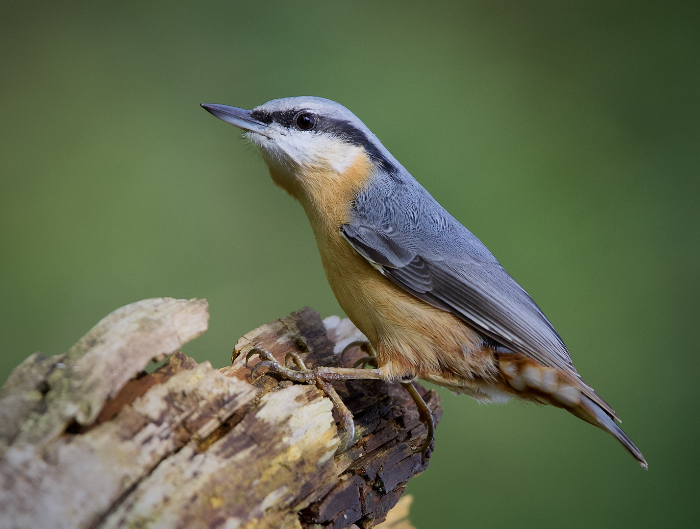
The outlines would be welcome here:
M 352 416 L 331 381 L 402 383 L 428 425 L 424 449 L 432 419 L 412 386 L 422 379 L 479 402 L 514 398 L 563 408 L 615 437 L 647 469 L 526 290 L 349 109 L 310 96 L 252 110 L 201 106 L 242 129 L 274 184 L 300 202 L 330 288 L 367 337 L 363 360 L 371 369 L 307 369 L 288 353 L 290 368 L 265 351 L 248 354 L 260 355 L 255 367 L 325 390 L 348 430 L 344 448 L 353 442 Z

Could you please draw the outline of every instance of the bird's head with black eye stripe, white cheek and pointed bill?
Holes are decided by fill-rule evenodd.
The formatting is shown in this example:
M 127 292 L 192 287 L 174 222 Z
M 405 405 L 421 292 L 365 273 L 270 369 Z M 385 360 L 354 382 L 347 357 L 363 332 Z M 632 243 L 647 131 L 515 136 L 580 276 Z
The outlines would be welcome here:
M 367 180 L 398 165 L 377 136 L 341 104 L 322 97 L 272 99 L 253 110 L 202 104 L 245 131 L 260 148 L 274 182 L 298 199 L 309 186 Z

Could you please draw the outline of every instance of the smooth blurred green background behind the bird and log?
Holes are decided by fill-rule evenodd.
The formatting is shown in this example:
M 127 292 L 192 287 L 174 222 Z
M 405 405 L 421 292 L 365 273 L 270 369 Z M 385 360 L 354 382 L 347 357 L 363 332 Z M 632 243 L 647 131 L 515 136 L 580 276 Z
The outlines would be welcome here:
M 185 352 L 341 313 L 298 204 L 200 102 L 351 108 L 533 295 L 644 472 L 561 410 L 443 392 L 428 528 L 700 526 L 700 3 L 0 6 L 0 379 L 155 296 Z

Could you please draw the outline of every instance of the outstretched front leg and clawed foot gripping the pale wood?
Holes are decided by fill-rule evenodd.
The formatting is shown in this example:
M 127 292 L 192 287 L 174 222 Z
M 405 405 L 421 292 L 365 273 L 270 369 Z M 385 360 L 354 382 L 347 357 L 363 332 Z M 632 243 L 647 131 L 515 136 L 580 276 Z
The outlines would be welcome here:
M 281 365 L 268 351 L 260 348 L 253 348 L 246 355 L 246 366 L 251 356 L 258 355 L 260 362 L 251 369 L 251 381 L 255 377 L 255 372 L 260 367 L 267 367 L 268 373 L 274 373 L 293 382 L 316 383 L 316 387 L 323 391 L 335 405 L 338 410 L 340 424 L 344 430 L 344 436 L 341 437 L 337 453 L 342 453 L 350 448 L 355 439 L 355 422 L 351 411 L 346 407 L 340 396 L 333 388 L 330 381 L 333 380 L 356 380 L 356 379 L 374 379 L 381 380 L 379 369 L 354 369 L 349 367 L 314 367 L 308 369 L 302 359 L 296 353 L 289 352 L 285 355 L 284 362 L 290 358 L 296 364 L 298 369 L 290 369 Z M 344 437 L 344 439 L 343 439 Z

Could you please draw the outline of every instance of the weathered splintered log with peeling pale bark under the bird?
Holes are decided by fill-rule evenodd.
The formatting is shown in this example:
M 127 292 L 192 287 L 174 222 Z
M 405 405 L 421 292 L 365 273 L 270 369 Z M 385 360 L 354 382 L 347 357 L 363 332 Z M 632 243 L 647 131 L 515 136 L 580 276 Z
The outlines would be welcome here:
M 283 363 L 352 365 L 349 320 L 309 308 L 258 327 L 214 369 L 179 353 L 207 329 L 207 302 L 158 298 L 106 316 L 67 353 L 34 353 L 0 389 L 0 529 L 370 528 L 428 466 L 426 435 L 398 383 L 334 383 L 356 422 L 336 456 L 321 390 L 263 374 L 253 347 Z M 152 374 L 151 360 L 170 356 Z M 253 360 L 253 363 L 257 360 Z M 421 395 L 442 414 L 433 391 Z M 411 527 L 407 499 L 388 527 Z M 395 525 L 395 521 L 401 519 Z M 382 525 L 384 527 L 384 524 Z

